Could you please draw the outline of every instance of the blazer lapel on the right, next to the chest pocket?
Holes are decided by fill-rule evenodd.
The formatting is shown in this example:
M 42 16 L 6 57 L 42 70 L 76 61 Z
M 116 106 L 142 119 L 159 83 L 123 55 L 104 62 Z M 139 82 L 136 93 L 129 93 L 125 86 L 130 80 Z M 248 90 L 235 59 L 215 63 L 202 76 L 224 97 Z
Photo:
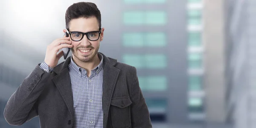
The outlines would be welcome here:
M 120 70 L 114 67 L 114 65 L 116 64 L 115 59 L 110 59 L 105 55 L 103 55 L 103 62 L 104 62 L 104 65 L 103 65 L 104 67 L 103 67 L 103 86 L 102 86 L 102 109 L 103 109 L 103 128 L 106 128 L 112 94 L 116 86 L 116 80 L 118 78 Z

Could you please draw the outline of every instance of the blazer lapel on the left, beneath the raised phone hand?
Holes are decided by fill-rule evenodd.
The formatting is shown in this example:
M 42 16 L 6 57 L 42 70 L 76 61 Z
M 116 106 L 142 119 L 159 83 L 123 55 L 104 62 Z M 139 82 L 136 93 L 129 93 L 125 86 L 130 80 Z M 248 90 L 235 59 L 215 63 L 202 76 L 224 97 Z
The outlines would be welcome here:
M 62 98 L 64 99 L 71 115 L 74 115 L 73 110 L 73 94 L 71 88 L 70 75 L 68 70 L 68 64 L 70 63 L 71 58 L 67 58 L 62 67 L 54 68 L 55 73 L 58 73 L 55 77 L 52 78 L 52 81 L 58 88 Z

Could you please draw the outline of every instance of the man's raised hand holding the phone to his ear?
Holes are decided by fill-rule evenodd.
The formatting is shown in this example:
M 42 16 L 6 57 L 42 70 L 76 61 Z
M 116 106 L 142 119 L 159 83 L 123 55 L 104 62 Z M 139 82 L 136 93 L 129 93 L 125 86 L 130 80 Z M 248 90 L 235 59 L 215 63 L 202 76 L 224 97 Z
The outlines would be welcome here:
M 52 41 L 52 43 L 47 46 L 44 62 L 49 67 L 54 68 L 58 64 L 59 59 L 63 56 L 63 51 L 58 54 L 57 52 L 64 47 L 73 47 L 71 43 L 70 37 L 66 37 L 66 35 L 64 35 L 63 38 Z

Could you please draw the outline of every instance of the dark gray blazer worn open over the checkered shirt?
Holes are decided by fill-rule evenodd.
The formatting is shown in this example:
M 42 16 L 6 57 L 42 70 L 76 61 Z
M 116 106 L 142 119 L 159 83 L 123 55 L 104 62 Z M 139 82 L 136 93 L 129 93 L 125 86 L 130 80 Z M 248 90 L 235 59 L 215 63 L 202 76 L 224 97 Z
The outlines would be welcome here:
M 135 67 L 105 55 L 103 58 L 103 128 L 152 128 Z M 52 73 L 38 64 L 7 102 L 6 121 L 22 125 L 39 116 L 41 128 L 72 128 L 74 111 L 68 64 L 70 57 Z

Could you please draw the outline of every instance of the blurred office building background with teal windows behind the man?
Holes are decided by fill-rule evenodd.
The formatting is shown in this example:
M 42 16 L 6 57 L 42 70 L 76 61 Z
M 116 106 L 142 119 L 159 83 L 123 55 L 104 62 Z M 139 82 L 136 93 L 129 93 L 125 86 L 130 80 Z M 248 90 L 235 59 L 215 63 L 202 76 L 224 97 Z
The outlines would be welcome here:
M 3 110 L 80 1 L 0 0 L 0 128 L 40 128 Z M 137 68 L 154 128 L 256 128 L 256 0 L 87 1 L 102 13 L 99 52 Z

